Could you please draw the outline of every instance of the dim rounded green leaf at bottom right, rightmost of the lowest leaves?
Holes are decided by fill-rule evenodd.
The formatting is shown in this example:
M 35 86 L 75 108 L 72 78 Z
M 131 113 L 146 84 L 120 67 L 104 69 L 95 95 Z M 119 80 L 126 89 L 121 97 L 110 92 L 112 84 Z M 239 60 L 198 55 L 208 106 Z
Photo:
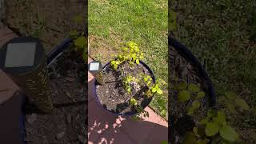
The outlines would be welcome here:
M 222 126 L 219 132 L 222 138 L 226 139 L 227 141 L 234 142 L 238 139 L 237 132 L 230 126 Z

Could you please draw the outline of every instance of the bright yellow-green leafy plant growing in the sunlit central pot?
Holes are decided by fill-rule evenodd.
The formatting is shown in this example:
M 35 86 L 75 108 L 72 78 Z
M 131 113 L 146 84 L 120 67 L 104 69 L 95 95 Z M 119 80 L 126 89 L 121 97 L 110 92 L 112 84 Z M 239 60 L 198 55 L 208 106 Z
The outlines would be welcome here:
M 155 94 L 162 95 L 163 92 L 160 87 L 165 85 L 166 82 L 162 80 L 153 82 L 151 76 L 147 74 L 138 74 L 136 77 L 131 74 L 124 74 L 123 64 L 128 63 L 129 66 L 135 66 L 140 63 L 142 58 L 144 58 L 144 54 L 139 49 L 138 45 L 134 42 L 127 42 L 126 46 L 122 48 L 122 53 L 115 55 L 115 58 L 110 60 L 110 66 L 114 70 L 118 70 L 118 68 L 122 70 L 122 84 L 128 94 L 131 94 L 134 89 L 140 89 L 146 86 L 147 90 L 142 97 L 150 98 Z M 136 87 L 134 87 L 134 83 L 136 84 Z M 130 98 L 130 106 L 133 106 L 138 114 L 142 114 L 144 117 L 149 117 L 148 112 L 146 112 L 142 106 L 138 105 L 137 99 L 134 96 Z M 134 116 L 134 119 L 138 120 L 138 115 Z

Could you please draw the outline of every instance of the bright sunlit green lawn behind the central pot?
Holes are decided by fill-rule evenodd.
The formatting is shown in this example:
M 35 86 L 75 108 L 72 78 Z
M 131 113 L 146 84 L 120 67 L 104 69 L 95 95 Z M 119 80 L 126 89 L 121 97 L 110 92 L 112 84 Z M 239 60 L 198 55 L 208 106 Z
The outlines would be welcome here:
M 145 53 L 143 61 L 154 70 L 156 78 L 167 81 L 167 0 L 90 0 L 88 15 L 93 58 L 107 62 L 110 54 L 118 52 L 126 42 L 133 41 Z M 150 106 L 161 113 L 155 99 Z

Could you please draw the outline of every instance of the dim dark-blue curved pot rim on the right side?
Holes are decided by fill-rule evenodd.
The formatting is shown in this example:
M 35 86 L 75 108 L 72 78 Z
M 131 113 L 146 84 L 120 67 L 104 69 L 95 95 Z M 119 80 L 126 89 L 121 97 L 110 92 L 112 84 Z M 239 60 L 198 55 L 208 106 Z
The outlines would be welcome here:
M 168 43 L 169 43 L 169 46 L 174 47 L 174 49 L 177 50 L 178 53 L 181 54 L 183 58 L 186 58 L 186 60 L 190 62 L 192 66 L 195 66 L 198 68 L 199 76 L 206 83 L 206 86 L 207 86 L 206 89 L 209 91 L 209 98 L 210 98 L 209 106 L 214 107 L 217 102 L 214 86 L 210 77 L 206 73 L 206 70 L 203 68 L 201 62 L 199 62 L 198 58 L 196 58 L 194 54 L 192 54 L 191 51 L 186 48 L 185 45 L 178 42 L 174 38 L 171 38 L 170 36 L 168 36 Z

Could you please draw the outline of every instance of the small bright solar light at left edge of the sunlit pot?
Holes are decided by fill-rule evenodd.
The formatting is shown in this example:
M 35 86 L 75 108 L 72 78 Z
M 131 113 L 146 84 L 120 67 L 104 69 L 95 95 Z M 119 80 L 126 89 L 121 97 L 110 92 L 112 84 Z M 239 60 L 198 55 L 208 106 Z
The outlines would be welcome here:
M 96 78 L 96 82 L 101 85 L 105 85 L 103 74 L 102 74 L 102 63 L 93 61 L 89 63 L 89 71 Z

